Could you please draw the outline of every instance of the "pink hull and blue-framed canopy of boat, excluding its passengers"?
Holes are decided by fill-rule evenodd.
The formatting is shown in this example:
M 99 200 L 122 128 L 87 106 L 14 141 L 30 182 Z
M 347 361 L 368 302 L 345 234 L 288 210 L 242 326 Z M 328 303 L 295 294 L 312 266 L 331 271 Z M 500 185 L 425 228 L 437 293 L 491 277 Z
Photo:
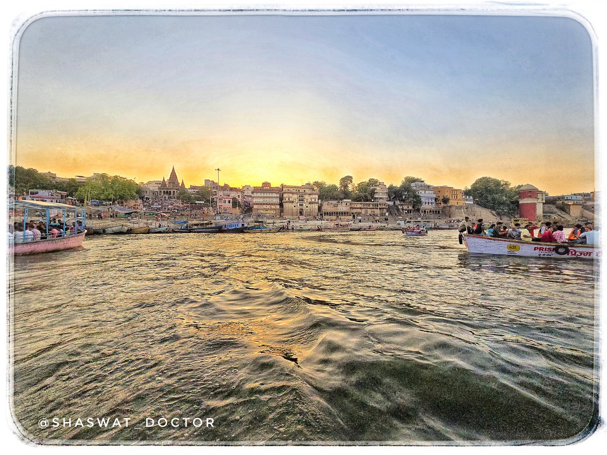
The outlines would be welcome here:
M 35 214 L 36 212 L 46 212 L 46 219 L 50 219 L 51 213 L 56 214 L 57 212 L 63 212 L 63 223 L 66 223 L 66 215 L 68 212 L 73 212 L 74 220 L 81 221 L 81 225 L 85 224 L 86 212 L 83 207 L 70 206 L 68 204 L 52 203 L 46 201 L 10 201 L 8 203 L 8 209 L 12 211 L 13 219 L 19 217 L 16 221 L 21 223 L 23 226 L 24 220 L 29 220 L 29 214 Z M 30 212 L 31 211 L 31 212 Z M 22 212 L 22 217 L 21 213 Z M 56 215 L 53 217 L 56 218 Z M 74 221 L 74 224 L 76 224 Z M 46 232 L 42 232 L 44 240 L 27 241 L 22 243 L 11 243 L 8 246 L 9 254 L 13 255 L 26 255 L 26 254 L 37 254 L 46 253 L 51 251 L 61 251 L 64 249 L 78 248 L 82 245 L 84 235 L 86 234 L 86 227 L 75 227 L 76 232 L 66 235 L 65 237 L 52 238 L 52 233 L 49 232 L 49 224 L 46 225 Z M 77 224 L 76 224 L 77 226 Z M 22 229 L 19 228 L 19 229 Z

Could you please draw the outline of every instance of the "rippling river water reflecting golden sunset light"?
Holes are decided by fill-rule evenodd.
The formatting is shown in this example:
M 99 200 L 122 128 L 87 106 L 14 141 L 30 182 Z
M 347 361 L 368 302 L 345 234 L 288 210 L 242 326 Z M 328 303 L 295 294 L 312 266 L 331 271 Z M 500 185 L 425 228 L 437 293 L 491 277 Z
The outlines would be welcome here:
M 51 443 L 576 437 L 596 414 L 593 263 L 456 236 L 109 235 L 18 257 L 13 415 Z

